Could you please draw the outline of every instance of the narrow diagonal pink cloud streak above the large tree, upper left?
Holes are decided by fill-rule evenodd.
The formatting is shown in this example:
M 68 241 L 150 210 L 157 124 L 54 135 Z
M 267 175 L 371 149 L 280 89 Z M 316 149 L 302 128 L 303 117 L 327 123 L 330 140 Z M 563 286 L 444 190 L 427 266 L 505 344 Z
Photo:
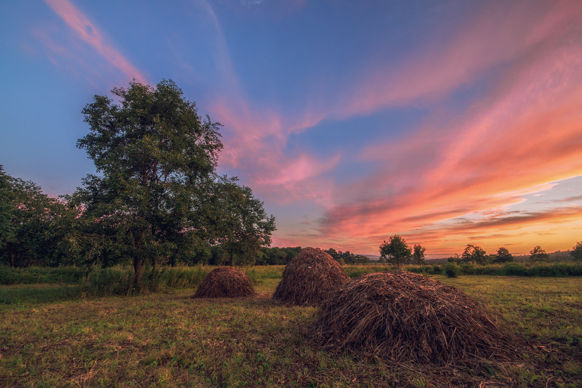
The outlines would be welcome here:
M 145 76 L 116 48 L 105 41 L 95 25 L 69 0 L 45 0 L 54 12 L 76 33 L 77 37 L 97 51 L 107 62 L 117 67 L 128 78 L 147 83 Z

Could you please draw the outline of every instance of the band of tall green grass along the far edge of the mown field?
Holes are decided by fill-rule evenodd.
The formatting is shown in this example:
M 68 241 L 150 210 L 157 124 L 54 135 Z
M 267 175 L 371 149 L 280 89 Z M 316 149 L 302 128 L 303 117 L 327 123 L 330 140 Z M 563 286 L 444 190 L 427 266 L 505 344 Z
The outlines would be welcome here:
M 74 284 L 83 297 L 100 297 L 109 295 L 131 295 L 147 291 L 164 291 L 173 289 L 195 289 L 204 277 L 214 269 L 214 266 L 176 266 L 162 267 L 154 270 L 144 269 L 140 284 L 134 285 L 133 268 L 116 266 L 113 268 L 94 268 L 87 276 L 83 268 L 74 266 L 56 268 L 10 268 L 0 265 L 0 284 Z M 343 266 L 347 275 L 357 277 L 365 273 L 395 270 L 396 266 L 386 264 L 346 265 Z M 260 284 L 264 279 L 281 279 L 285 266 L 250 266 L 240 268 L 249 276 L 254 284 Z M 403 270 L 422 273 L 423 275 L 444 275 L 444 266 L 422 265 L 406 266 Z M 566 277 L 582 276 L 582 263 L 506 263 L 496 265 L 459 265 L 459 275 L 501 275 L 501 276 L 538 276 Z M 67 295 L 71 290 L 67 291 Z

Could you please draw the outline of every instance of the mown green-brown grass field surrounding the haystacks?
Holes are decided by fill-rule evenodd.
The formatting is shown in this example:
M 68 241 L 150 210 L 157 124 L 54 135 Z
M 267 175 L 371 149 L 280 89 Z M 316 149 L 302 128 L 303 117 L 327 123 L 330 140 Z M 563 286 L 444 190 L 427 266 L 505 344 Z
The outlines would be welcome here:
M 516 362 L 435 367 L 313 346 L 315 309 L 270 300 L 281 270 L 247 270 L 260 296 L 230 300 L 192 300 L 193 289 L 80 299 L 70 286 L 1 286 L 0 386 L 582 386 L 579 277 L 434 276 L 530 342 Z

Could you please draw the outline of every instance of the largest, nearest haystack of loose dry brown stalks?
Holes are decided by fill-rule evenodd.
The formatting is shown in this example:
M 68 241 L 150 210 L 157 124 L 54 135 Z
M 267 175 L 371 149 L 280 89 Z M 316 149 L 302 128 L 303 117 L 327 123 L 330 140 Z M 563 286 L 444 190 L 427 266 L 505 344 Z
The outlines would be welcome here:
M 313 339 L 332 350 L 391 361 L 445 365 L 466 358 L 511 359 L 514 337 L 455 287 L 409 272 L 361 276 L 331 293 Z

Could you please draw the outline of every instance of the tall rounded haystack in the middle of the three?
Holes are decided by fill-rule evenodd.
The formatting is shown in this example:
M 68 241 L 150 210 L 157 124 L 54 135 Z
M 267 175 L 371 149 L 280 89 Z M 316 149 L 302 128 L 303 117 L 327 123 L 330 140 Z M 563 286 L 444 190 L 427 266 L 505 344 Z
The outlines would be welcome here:
M 317 306 L 349 279 L 327 252 L 304 248 L 285 267 L 273 299 L 291 305 Z

